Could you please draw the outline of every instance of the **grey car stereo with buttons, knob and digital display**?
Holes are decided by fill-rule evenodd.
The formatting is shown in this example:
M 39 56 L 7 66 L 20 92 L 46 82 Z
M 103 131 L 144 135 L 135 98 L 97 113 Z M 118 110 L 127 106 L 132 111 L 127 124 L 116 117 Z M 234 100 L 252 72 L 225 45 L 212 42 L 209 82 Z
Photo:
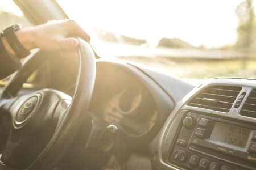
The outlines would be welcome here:
M 256 127 L 188 112 L 168 162 L 188 169 L 255 169 Z M 239 169 L 239 168 L 238 168 Z

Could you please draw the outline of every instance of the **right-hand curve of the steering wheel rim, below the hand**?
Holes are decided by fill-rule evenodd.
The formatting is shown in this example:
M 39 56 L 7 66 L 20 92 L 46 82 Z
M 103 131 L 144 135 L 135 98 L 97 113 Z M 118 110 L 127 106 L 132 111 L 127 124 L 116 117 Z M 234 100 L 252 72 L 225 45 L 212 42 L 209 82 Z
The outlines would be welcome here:
M 47 146 L 28 169 L 52 169 L 71 146 L 77 131 L 87 114 L 96 78 L 96 61 L 92 48 L 79 40 L 79 73 L 71 105 L 63 119 L 58 122 L 55 133 Z

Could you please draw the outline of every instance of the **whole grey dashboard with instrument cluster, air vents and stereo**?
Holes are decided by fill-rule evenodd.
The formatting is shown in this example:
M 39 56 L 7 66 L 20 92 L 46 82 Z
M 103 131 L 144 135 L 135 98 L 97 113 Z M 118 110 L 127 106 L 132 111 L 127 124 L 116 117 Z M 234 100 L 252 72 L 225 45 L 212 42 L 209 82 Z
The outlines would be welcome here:
M 92 121 L 118 127 L 106 162 L 114 169 L 256 169 L 256 80 L 216 78 L 195 87 L 118 59 L 97 59 L 96 73 L 89 112 Z M 72 87 L 75 79 L 65 82 Z M 51 88 L 72 95 L 63 84 Z M 60 169 L 82 164 L 85 151 Z

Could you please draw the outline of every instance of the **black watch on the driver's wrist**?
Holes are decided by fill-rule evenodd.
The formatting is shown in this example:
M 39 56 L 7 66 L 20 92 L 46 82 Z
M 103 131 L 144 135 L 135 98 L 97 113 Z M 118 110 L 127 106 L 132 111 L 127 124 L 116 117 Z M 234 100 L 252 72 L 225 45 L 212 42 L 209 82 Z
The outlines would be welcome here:
M 16 37 L 15 32 L 19 31 L 19 29 L 22 29 L 22 26 L 20 24 L 14 24 L 4 29 L 1 35 L 6 38 L 7 42 L 15 52 L 15 56 L 18 58 L 23 58 L 30 54 L 30 50 L 24 48 Z

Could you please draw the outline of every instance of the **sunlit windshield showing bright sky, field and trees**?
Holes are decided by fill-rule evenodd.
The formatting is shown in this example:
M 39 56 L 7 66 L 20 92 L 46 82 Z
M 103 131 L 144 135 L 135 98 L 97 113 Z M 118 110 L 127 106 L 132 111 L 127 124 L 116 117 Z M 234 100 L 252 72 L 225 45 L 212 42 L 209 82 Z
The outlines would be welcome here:
M 179 78 L 256 78 L 255 1 L 59 0 L 101 57 Z

